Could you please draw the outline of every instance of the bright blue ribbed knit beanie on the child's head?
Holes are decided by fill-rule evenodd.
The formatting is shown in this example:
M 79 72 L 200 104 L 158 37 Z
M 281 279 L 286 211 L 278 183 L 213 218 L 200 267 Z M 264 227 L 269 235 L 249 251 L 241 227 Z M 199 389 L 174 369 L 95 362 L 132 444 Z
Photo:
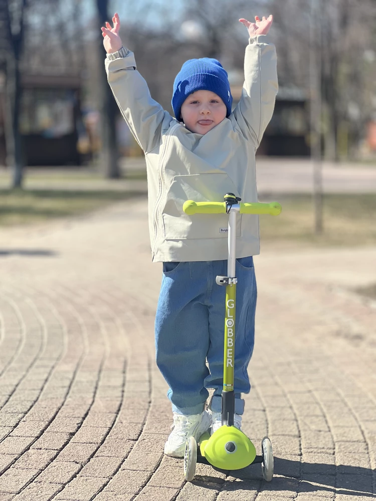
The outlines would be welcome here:
M 180 108 L 185 99 L 196 91 L 212 91 L 227 107 L 227 117 L 231 113 L 233 97 L 227 72 L 217 59 L 202 58 L 185 61 L 173 83 L 172 108 L 177 120 L 181 120 Z

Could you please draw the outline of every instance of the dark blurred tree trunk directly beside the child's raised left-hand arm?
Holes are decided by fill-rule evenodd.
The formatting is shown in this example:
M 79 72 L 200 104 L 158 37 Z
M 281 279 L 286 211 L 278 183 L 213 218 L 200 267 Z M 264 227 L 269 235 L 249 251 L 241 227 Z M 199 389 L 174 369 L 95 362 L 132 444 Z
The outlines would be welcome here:
M 101 168 L 105 177 L 116 179 L 120 177 L 119 162 L 118 162 L 118 149 L 116 141 L 116 116 L 117 104 L 112 95 L 112 91 L 107 82 L 107 75 L 104 68 L 104 59 L 106 52 L 103 47 L 103 37 L 101 35 L 100 27 L 105 26 L 105 22 L 112 16 L 108 17 L 108 0 L 97 0 L 98 8 L 98 38 L 99 47 L 98 53 L 102 69 L 100 74 L 100 104 L 99 111 L 101 117 L 101 141 L 102 148 L 100 153 Z

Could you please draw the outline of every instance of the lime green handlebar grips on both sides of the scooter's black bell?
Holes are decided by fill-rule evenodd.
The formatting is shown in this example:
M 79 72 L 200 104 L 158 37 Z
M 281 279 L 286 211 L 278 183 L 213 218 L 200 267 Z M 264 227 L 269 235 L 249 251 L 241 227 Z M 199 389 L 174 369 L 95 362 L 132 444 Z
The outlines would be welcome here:
M 278 215 L 282 210 L 278 202 L 270 203 L 241 203 L 241 214 L 270 214 Z M 195 202 L 194 200 L 186 200 L 183 204 L 185 214 L 225 214 L 226 202 Z

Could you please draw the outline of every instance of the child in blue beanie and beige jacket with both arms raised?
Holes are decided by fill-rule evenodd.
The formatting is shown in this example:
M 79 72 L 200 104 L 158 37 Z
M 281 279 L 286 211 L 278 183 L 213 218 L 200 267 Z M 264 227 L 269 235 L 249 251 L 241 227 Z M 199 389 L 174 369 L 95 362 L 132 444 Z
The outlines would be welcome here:
M 215 59 L 186 61 L 175 78 L 176 118 L 151 99 L 136 70 L 134 55 L 122 46 L 119 16 L 102 27 L 108 82 L 120 111 L 145 152 L 152 261 L 163 262 L 155 318 L 156 362 L 169 385 L 173 430 L 164 453 L 182 457 L 187 437 L 199 439 L 221 426 L 227 215 L 182 210 L 185 200 L 223 201 L 232 192 L 257 201 L 255 152 L 274 110 L 278 90 L 275 47 L 265 35 L 269 18 L 245 19 L 249 45 L 245 83 L 232 111 L 227 73 Z M 256 215 L 238 216 L 235 343 L 235 419 L 241 428 L 249 393 L 247 367 L 254 345 L 256 281 L 253 256 L 259 254 Z M 208 361 L 209 369 L 206 365 Z M 209 396 L 214 395 L 205 410 Z

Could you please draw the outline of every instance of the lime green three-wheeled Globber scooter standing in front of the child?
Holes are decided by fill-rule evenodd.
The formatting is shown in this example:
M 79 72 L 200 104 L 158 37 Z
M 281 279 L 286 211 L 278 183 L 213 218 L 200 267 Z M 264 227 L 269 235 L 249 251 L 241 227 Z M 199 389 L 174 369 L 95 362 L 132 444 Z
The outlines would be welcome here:
M 195 437 L 191 436 L 185 443 L 184 477 L 192 481 L 198 462 L 210 464 L 223 470 L 237 470 L 252 463 L 261 463 L 262 473 L 270 482 L 274 471 L 274 458 L 271 441 L 264 437 L 261 442 L 261 456 L 251 440 L 234 426 L 235 394 L 234 394 L 234 358 L 235 358 L 235 306 L 236 306 L 236 217 L 240 214 L 278 215 L 281 205 L 271 203 L 239 203 L 241 198 L 234 193 L 226 193 L 224 202 L 195 202 L 187 200 L 183 211 L 193 214 L 229 214 L 228 220 L 228 268 L 227 277 L 216 277 L 216 283 L 226 286 L 225 304 L 225 339 L 222 390 L 222 426 L 210 435 L 204 433 L 200 437 L 199 446 Z

